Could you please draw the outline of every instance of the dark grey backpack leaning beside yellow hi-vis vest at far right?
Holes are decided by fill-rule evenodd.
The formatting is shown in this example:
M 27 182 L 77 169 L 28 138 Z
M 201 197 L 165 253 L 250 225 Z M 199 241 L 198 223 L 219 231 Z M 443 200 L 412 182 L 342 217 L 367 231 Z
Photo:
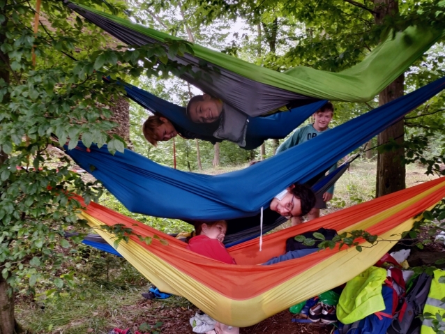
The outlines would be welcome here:
M 400 298 L 398 310 L 393 317 L 387 334 L 420 334 L 422 322 L 418 318 L 423 312 L 432 277 L 421 273 L 414 279 L 411 289 Z

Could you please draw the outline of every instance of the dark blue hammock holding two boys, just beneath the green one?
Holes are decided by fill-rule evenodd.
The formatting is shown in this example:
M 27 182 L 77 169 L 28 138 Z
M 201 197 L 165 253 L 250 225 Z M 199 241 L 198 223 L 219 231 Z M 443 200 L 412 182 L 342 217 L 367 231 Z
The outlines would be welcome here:
M 107 80 L 106 80 L 107 81 Z M 131 84 L 125 84 L 128 98 L 153 113 L 162 114 L 174 124 L 176 130 L 188 139 L 198 138 L 208 142 L 221 142 L 213 137 L 214 128 L 211 124 L 193 123 L 186 116 L 186 108 L 158 98 L 144 89 Z M 249 117 L 246 131 L 246 146 L 242 149 L 252 150 L 263 144 L 266 139 L 282 139 L 289 135 L 310 115 L 326 104 L 326 100 L 311 103 L 303 107 L 278 112 L 265 117 Z

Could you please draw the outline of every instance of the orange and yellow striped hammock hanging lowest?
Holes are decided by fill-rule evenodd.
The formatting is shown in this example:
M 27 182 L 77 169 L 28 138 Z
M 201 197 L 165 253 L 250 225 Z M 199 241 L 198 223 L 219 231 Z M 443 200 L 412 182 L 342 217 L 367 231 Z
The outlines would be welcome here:
M 245 327 L 352 280 L 375 264 L 403 231 L 412 228 L 416 215 L 444 197 L 445 178 L 379 197 L 264 236 L 262 252 L 257 239 L 229 248 L 238 265 L 190 252 L 186 243 L 98 204 L 89 204 L 80 217 L 111 245 L 113 236 L 101 231 L 101 225 L 123 224 L 140 236 L 157 234 L 165 239 L 168 245 L 156 239 L 146 245 L 137 236 L 130 236 L 130 241 L 119 243 L 117 250 L 161 291 L 184 296 L 223 324 Z M 362 252 L 336 247 L 271 266 L 259 265 L 283 254 L 287 238 L 319 227 L 339 232 L 364 229 L 377 234 L 381 241 L 370 245 L 361 240 Z

